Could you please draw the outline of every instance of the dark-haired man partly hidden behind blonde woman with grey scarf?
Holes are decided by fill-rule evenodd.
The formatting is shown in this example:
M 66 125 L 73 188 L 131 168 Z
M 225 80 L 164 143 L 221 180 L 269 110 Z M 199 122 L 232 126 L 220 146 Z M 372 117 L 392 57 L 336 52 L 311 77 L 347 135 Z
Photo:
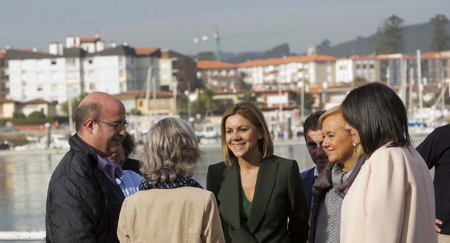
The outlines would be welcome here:
M 311 209 L 312 185 L 316 182 L 316 178 L 319 176 L 319 173 L 321 173 L 323 167 L 325 167 L 328 163 L 328 156 L 325 152 L 323 152 L 322 126 L 319 123 L 319 117 L 323 114 L 323 112 L 325 111 L 319 110 L 312 113 L 309 117 L 307 117 L 307 119 L 304 120 L 303 124 L 304 140 L 312 162 L 316 164 L 316 166 L 311 169 L 300 173 L 304 186 L 304 193 L 307 197 L 308 209 Z

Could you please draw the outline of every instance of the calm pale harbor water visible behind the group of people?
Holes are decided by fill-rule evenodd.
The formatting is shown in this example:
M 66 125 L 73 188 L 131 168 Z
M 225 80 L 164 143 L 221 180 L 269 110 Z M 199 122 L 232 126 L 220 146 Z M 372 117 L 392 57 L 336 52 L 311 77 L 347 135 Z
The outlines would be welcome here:
M 414 139 L 415 144 L 423 138 Z M 207 167 L 221 162 L 223 157 L 217 144 L 200 145 L 200 150 L 203 157 L 194 178 L 205 188 Z M 64 154 L 64 150 L 0 153 L 0 231 L 45 230 L 47 188 L 51 173 Z M 303 138 L 276 142 L 274 154 L 295 159 L 300 171 L 314 166 Z

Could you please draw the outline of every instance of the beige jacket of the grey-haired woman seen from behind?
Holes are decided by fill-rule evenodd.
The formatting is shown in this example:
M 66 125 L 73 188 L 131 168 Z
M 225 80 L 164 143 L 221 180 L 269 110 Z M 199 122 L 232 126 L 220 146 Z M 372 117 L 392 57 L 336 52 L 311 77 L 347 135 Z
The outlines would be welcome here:
M 117 237 L 120 242 L 225 242 L 214 194 L 192 187 L 127 197 Z

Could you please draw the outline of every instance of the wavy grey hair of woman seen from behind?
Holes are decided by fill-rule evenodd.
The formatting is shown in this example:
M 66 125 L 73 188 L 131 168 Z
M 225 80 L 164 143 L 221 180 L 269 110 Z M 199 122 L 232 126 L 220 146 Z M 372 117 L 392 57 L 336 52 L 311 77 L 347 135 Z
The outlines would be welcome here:
M 148 130 L 141 152 L 141 173 L 151 184 L 172 183 L 179 177 L 192 177 L 201 152 L 191 125 L 169 117 Z

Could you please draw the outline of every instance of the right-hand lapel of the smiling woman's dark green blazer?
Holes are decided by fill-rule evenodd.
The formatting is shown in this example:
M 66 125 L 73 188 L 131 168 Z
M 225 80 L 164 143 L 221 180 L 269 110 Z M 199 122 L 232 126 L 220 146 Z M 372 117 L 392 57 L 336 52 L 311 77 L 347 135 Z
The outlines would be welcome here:
M 259 165 L 256 180 L 255 195 L 252 200 L 252 211 L 248 218 L 248 228 L 254 233 L 259 222 L 264 216 L 269 205 L 272 192 L 274 191 L 276 174 L 278 173 L 278 163 L 273 156 L 263 159 Z M 239 206 L 239 205 L 238 205 Z M 239 210 L 237 210 L 239 211 Z

